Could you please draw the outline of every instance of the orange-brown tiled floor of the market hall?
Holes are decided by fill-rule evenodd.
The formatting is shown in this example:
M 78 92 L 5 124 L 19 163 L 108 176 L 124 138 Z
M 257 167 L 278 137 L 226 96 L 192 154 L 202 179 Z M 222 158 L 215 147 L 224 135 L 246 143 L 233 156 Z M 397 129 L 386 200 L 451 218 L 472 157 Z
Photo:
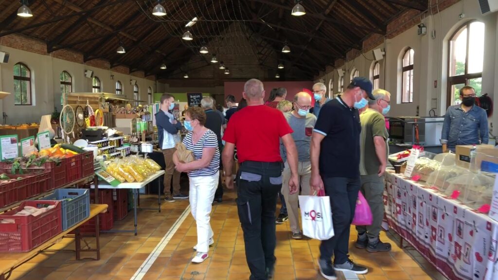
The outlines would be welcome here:
M 156 196 L 141 197 L 142 206 L 153 206 Z M 139 211 L 138 236 L 132 234 L 103 234 L 100 261 L 76 261 L 73 252 L 45 252 L 14 271 L 10 279 L 45 280 L 129 280 L 144 260 L 154 250 L 181 213 L 188 201 L 163 203 L 162 212 Z M 192 247 L 196 244 L 196 227 L 191 215 L 178 228 L 167 246 L 146 273 L 144 280 L 247 280 L 249 269 L 244 253 L 242 229 L 235 206 L 235 193 L 227 192 L 222 204 L 213 207 L 211 224 L 215 244 L 210 257 L 202 264 L 191 264 Z M 133 216 L 128 214 L 115 228 L 131 228 Z M 393 243 L 392 252 L 370 254 L 354 248 L 356 238 L 351 231 L 351 258 L 369 268 L 369 273 L 359 276 L 365 280 L 444 280 L 416 251 L 402 250 L 396 236 L 382 233 L 381 239 Z M 319 242 L 292 240 L 288 223 L 277 225 L 275 280 L 323 279 L 317 273 L 316 259 Z M 396 244 L 395 244 L 396 243 Z M 90 246 L 93 246 L 91 243 Z M 54 249 L 74 248 L 71 239 L 65 239 Z M 92 255 L 89 255 L 92 256 Z M 341 275 L 340 279 L 345 279 Z M 348 277 L 349 279 L 349 277 Z

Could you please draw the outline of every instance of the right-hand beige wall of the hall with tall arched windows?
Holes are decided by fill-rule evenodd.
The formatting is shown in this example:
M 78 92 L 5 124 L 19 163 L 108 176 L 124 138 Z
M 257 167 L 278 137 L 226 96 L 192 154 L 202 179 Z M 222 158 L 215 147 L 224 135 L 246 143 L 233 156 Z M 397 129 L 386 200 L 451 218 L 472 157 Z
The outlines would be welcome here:
M 433 1 L 434 2 L 434 1 Z M 380 87 L 391 93 L 391 111 L 389 116 L 414 116 L 417 106 L 419 106 L 420 116 L 429 116 L 431 99 L 437 99 L 436 112 L 439 116 L 446 112 L 447 96 L 447 64 L 448 64 L 448 39 L 451 34 L 460 28 L 465 22 L 473 19 L 482 21 L 486 25 L 485 47 L 484 47 L 484 69 L 482 81 L 482 93 L 489 93 L 494 100 L 495 108 L 498 108 L 498 13 L 491 13 L 483 16 L 477 1 L 464 0 L 465 17 L 459 19 L 462 4 L 458 2 L 439 14 L 434 14 L 434 22 L 430 13 L 425 17 L 427 25 L 426 35 L 417 35 L 417 26 L 414 26 L 391 39 L 385 40 L 375 48 L 385 50 L 384 59 L 380 63 Z M 441 19 L 439 18 L 441 16 Z M 432 39 L 431 32 L 436 29 L 436 38 Z M 398 83 L 398 57 L 406 48 L 411 47 L 415 51 L 414 56 L 414 96 L 411 104 L 398 104 L 400 85 Z M 370 68 L 373 59 L 371 51 L 360 55 L 354 60 L 346 62 L 338 67 L 345 70 L 344 86 L 348 85 L 350 79 L 349 69 L 356 68 L 360 71 L 360 76 L 370 77 Z M 384 72 L 384 67 L 385 72 Z M 334 80 L 333 92 L 338 91 L 339 76 L 336 69 L 333 69 L 323 76 L 325 84 L 329 84 L 329 79 Z M 437 80 L 437 88 L 434 88 L 434 81 Z M 495 113 L 492 120 L 498 124 L 498 113 Z M 497 126 L 495 126 L 497 127 Z M 494 133 L 498 129 L 494 127 Z

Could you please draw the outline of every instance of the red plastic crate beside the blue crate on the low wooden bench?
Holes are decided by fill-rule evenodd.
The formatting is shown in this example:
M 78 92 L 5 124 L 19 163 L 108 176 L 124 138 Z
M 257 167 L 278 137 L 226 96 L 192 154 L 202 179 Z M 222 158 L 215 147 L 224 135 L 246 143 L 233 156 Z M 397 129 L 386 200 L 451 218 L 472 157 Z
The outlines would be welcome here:
M 24 206 L 40 208 L 44 204 L 55 205 L 55 208 L 37 217 L 14 216 L 24 209 Z M 0 215 L 0 219 L 15 221 L 14 224 L 0 224 L 1 252 L 28 252 L 62 232 L 62 211 L 59 201 L 24 201 L 19 207 Z

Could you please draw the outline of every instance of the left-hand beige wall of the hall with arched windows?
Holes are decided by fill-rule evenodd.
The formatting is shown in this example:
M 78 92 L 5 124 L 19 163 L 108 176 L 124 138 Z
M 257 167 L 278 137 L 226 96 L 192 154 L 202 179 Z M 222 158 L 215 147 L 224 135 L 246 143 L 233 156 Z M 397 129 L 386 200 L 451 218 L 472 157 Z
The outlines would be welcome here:
M 164 91 L 163 84 L 157 83 L 156 89 L 156 82 L 148 79 L 5 46 L 0 46 L 0 50 L 10 54 L 9 62 L 0 64 L 0 91 L 11 93 L 0 101 L 0 116 L 2 112 L 7 114 L 7 124 L 39 123 L 42 115 L 52 114 L 54 106 L 60 111 L 59 79 L 62 71 L 67 71 L 72 76 L 73 92 L 92 92 L 92 79 L 85 77 L 85 70 L 93 70 L 94 76 L 99 77 L 102 92 L 115 93 L 116 81 L 120 80 L 124 95 L 133 98 L 133 86 L 129 82 L 131 79 L 137 81 L 139 99 L 142 101 L 147 101 L 148 87 L 152 88 L 152 92 Z M 13 66 L 18 62 L 23 62 L 31 70 L 33 106 L 14 105 L 12 76 Z M 114 75 L 114 80 L 111 80 L 111 75 Z

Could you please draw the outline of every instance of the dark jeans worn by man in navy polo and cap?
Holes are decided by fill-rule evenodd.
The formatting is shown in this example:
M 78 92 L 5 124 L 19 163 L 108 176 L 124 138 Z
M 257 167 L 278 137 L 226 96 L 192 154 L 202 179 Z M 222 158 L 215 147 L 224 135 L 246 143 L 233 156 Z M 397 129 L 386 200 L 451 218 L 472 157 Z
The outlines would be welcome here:
M 344 264 L 349 254 L 349 232 L 355 216 L 356 200 L 361 187 L 360 177 L 322 178 L 325 194 L 330 197 L 334 237 L 320 244 L 320 259 L 330 261 L 335 256 L 334 264 Z

